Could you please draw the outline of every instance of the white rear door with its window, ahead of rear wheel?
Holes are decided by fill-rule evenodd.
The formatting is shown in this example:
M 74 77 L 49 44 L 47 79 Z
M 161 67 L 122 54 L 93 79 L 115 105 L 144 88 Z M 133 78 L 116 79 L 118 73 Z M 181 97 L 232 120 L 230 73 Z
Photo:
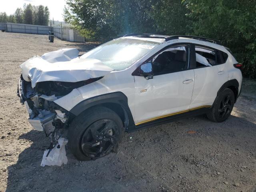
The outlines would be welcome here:
M 228 72 L 218 50 L 194 45 L 195 82 L 190 108 L 211 106 L 220 87 L 228 81 Z

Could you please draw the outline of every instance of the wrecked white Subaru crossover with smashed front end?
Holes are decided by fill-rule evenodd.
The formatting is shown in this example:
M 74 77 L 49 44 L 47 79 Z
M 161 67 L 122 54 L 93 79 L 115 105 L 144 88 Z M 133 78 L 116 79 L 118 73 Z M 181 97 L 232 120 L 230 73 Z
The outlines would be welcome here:
M 222 122 L 241 90 L 242 65 L 208 38 L 129 34 L 78 54 L 62 49 L 24 62 L 18 96 L 30 124 L 52 146 L 67 130 L 82 161 L 116 152 L 124 131 L 199 114 Z

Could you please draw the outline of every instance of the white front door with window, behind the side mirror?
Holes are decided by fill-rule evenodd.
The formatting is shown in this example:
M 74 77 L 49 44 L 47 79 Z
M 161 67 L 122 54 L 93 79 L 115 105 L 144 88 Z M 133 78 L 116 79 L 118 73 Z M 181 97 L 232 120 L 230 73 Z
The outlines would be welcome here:
M 136 125 L 188 111 L 194 86 L 189 52 L 188 45 L 166 48 L 151 58 L 153 79 L 134 76 Z

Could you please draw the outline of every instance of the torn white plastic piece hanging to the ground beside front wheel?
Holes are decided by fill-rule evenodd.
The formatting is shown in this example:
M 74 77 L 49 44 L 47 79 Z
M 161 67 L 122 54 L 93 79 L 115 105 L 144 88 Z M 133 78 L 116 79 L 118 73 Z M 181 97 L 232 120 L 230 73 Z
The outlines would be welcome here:
M 68 143 L 68 140 L 61 137 L 58 139 L 58 143 L 54 146 L 54 148 L 50 151 L 49 154 L 48 154 L 49 150 L 44 151 L 44 156 L 41 162 L 41 166 L 43 167 L 46 165 L 62 166 L 62 164 L 67 164 L 68 158 L 66 156 L 66 150 L 65 150 L 65 145 L 67 143 Z

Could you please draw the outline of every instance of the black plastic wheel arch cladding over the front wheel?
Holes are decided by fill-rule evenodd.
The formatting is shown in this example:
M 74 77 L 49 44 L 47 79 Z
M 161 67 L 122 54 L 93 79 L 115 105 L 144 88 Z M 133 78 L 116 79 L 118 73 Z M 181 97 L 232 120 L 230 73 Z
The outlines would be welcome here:
M 74 106 L 70 110 L 70 113 L 78 116 L 85 110 L 94 106 L 105 106 L 116 112 L 122 119 L 126 129 L 135 126 L 132 113 L 128 106 L 128 98 L 122 92 L 102 94 L 83 100 Z

